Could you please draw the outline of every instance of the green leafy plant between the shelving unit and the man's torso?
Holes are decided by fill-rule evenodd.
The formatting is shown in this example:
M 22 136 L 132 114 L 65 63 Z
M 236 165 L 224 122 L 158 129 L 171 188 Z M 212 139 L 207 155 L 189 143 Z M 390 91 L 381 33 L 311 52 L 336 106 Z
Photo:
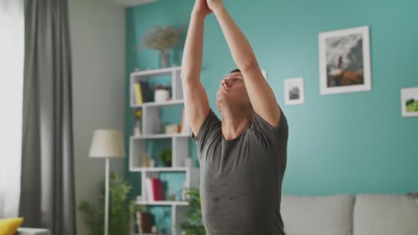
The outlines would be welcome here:
M 205 227 L 201 217 L 200 193 L 198 188 L 187 190 L 188 210 L 184 211 L 187 221 L 177 225 L 185 234 L 204 235 Z

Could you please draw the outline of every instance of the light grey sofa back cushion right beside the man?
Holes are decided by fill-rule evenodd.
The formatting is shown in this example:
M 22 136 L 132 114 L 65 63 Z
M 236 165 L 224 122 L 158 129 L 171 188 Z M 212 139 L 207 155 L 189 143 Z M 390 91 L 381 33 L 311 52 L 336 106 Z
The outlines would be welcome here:
M 287 235 L 351 235 L 354 196 L 283 195 L 281 215 Z

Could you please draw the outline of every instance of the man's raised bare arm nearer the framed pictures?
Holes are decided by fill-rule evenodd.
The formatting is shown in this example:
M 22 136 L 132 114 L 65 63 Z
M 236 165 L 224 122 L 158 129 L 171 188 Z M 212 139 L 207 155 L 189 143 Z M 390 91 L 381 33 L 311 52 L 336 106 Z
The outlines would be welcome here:
M 206 1 L 210 10 L 217 17 L 236 66 L 243 74 L 245 87 L 254 111 L 272 126 L 277 126 L 281 112 L 271 87 L 261 73 L 250 43 L 221 0 Z

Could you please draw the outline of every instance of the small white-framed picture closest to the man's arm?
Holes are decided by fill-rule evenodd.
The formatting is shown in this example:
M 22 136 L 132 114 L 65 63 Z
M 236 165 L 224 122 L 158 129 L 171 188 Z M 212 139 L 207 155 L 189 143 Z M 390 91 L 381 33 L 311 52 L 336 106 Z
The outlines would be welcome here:
M 285 104 L 305 103 L 305 88 L 303 78 L 285 79 Z

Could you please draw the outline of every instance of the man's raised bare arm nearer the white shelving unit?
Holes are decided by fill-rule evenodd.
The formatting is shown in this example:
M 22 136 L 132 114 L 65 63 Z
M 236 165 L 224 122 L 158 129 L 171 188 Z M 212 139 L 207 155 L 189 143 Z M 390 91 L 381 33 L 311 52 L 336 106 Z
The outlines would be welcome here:
M 184 107 L 188 122 L 195 135 L 197 135 L 209 112 L 208 96 L 200 82 L 200 71 L 203 54 L 204 21 L 210 12 L 206 0 L 195 1 L 195 6 L 190 14 L 190 25 L 181 63 Z

